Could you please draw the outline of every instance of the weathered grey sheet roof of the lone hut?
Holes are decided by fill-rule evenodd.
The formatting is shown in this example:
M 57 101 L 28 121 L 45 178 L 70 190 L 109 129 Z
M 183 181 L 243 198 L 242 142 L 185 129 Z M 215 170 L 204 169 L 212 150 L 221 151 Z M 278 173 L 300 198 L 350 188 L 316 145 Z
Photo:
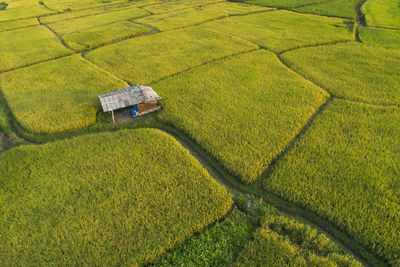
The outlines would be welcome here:
M 161 97 L 148 86 L 131 86 L 107 94 L 99 95 L 103 111 L 111 111 L 129 106 L 134 106 L 149 101 L 161 99 Z

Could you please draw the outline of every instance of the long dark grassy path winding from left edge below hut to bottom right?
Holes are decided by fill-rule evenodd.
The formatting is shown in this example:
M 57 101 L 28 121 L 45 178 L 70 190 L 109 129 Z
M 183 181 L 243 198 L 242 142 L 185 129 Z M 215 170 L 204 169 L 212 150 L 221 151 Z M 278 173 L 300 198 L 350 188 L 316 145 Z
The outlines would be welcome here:
M 331 99 L 331 98 L 330 98 Z M 330 100 L 331 101 L 331 100 Z M 13 116 L 12 114 L 9 114 L 9 116 Z M 13 131 L 19 132 L 19 136 L 22 138 L 29 140 L 30 142 L 33 142 L 35 144 L 43 144 L 43 143 L 48 143 L 48 141 L 38 141 L 38 140 L 32 140 L 29 137 L 27 137 L 24 133 L 21 134 L 21 130 L 24 131 L 21 126 L 15 127 L 18 122 L 16 121 L 15 118 L 11 118 L 11 125 L 14 125 Z M 132 127 L 132 126 L 131 126 Z M 133 128 L 136 128 L 137 125 L 133 125 Z M 310 225 L 315 225 L 318 226 L 319 229 L 322 229 L 323 232 L 328 234 L 328 236 L 331 236 L 334 238 L 334 240 L 338 243 L 340 243 L 342 246 L 348 248 L 354 255 L 356 255 L 358 258 L 362 260 L 362 262 L 367 262 L 370 266 L 384 266 L 383 262 L 373 253 L 371 253 L 368 249 L 357 243 L 355 240 L 350 238 L 347 234 L 336 228 L 331 222 L 322 219 L 312 211 L 306 210 L 304 208 L 301 208 L 299 206 L 296 206 L 295 204 L 288 202 L 284 199 L 281 199 L 269 192 L 260 192 L 259 188 L 253 184 L 251 186 L 246 186 L 243 185 L 242 183 L 239 182 L 238 178 L 230 174 L 229 171 L 225 169 L 225 167 L 217 161 L 213 156 L 211 156 L 207 151 L 205 151 L 203 148 L 201 148 L 195 141 L 193 141 L 191 138 L 189 138 L 187 135 L 185 135 L 182 131 L 176 129 L 173 126 L 170 125 L 165 125 L 159 122 L 150 122 L 150 124 L 144 124 L 144 125 L 139 125 L 138 128 L 157 128 L 160 129 L 172 137 L 174 137 L 177 141 L 179 141 L 184 147 L 189 149 L 191 154 L 195 156 L 197 160 L 199 160 L 200 164 L 204 166 L 206 164 L 207 166 L 205 167 L 208 172 L 210 172 L 210 169 L 213 170 L 212 177 L 217 178 L 217 180 L 220 181 L 220 183 L 224 184 L 230 190 L 233 189 L 233 192 L 242 194 L 242 193 L 253 193 L 261 197 L 265 197 L 266 201 L 273 205 L 274 207 L 278 208 L 278 210 L 292 215 L 294 217 L 300 217 L 303 220 L 305 220 L 308 224 Z M 123 129 L 123 128 L 120 128 Z M 104 132 L 103 129 L 94 129 L 94 132 Z M 116 131 L 119 129 L 115 128 L 109 128 L 106 129 L 105 131 Z M 79 132 L 79 131 L 78 131 Z M 64 136 L 61 139 L 53 139 L 52 141 L 49 142 L 57 142 L 62 139 L 68 139 L 73 136 L 79 136 L 79 133 L 74 131 L 71 132 L 72 136 Z M 78 133 L 78 135 L 76 135 Z M 90 134 L 93 132 L 82 132 L 83 135 Z M 186 144 L 186 145 L 185 145 Z M 188 148 L 189 147 L 189 148 Z M 195 151 L 196 153 L 193 153 Z M 217 177 L 216 175 L 217 174 Z

